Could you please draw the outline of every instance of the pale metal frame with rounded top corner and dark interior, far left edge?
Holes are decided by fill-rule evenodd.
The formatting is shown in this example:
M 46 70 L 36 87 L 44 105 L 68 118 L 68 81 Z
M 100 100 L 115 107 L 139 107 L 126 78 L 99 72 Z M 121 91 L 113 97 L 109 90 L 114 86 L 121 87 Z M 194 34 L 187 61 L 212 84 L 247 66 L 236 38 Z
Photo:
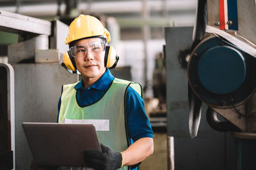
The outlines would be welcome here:
M 15 169 L 14 71 L 0 63 L 0 169 Z

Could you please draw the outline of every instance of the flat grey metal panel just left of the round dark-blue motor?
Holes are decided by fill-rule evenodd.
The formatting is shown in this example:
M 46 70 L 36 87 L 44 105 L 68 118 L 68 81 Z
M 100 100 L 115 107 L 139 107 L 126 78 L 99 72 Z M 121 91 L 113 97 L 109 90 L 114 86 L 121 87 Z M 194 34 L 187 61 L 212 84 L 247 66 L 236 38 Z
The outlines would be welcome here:
M 191 46 L 193 27 L 167 27 L 166 36 L 166 91 L 168 110 L 168 135 L 189 137 L 188 127 L 188 78 L 182 69 L 179 50 Z

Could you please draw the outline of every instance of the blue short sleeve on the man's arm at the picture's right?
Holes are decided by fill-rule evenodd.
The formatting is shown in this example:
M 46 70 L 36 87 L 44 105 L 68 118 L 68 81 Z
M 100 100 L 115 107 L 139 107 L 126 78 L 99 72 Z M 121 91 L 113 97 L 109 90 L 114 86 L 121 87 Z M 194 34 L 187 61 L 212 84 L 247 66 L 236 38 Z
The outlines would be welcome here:
M 132 87 L 126 94 L 126 116 L 129 138 L 136 141 L 140 138 L 153 138 L 153 131 L 144 108 L 144 101 Z

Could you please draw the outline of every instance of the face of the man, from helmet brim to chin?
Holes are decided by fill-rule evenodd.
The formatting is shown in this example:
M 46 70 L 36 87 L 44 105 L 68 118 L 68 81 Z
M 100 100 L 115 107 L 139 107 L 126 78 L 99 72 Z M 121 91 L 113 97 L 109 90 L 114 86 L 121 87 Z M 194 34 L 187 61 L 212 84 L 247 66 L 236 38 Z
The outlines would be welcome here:
M 74 55 L 77 70 L 83 78 L 98 80 L 106 71 L 105 48 L 101 38 L 81 39 L 70 50 Z

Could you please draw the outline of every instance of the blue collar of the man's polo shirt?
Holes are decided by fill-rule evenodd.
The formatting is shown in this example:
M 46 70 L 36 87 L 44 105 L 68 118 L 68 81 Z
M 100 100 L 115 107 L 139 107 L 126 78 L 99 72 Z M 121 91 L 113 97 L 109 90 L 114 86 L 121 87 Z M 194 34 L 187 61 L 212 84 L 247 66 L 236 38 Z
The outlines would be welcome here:
M 88 87 L 88 89 L 93 88 L 97 90 L 108 90 L 109 85 L 111 82 L 114 80 L 114 76 L 111 74 L 109 69 L 106 69 L 106 72 L 97 80 L 91 87 Z M 83 85 L 83 78 L 81 81 L 77 83 L 77 85 L 74 87 L 76 90 L 84 90 L 84 85 Z

